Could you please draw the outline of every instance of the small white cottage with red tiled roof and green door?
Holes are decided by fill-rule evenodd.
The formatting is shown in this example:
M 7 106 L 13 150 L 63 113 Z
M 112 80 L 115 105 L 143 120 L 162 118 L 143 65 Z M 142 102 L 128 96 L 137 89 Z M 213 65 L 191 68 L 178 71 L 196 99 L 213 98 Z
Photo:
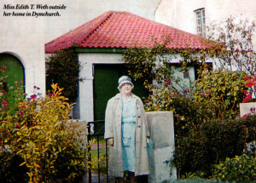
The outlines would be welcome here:
M 86 121 L 104 119 L 107 101 L 118 92 L 117 81 L 126 74 L 123 51 L 129 48 L 152 48 L 154 39 L 163 43 L 170 36 L 172 49 L 205 49 L 202 37 L 147 20 L 128 12 L 108 11 L 94 20 L 45 44 L 45 54 L 75 47 L 83 66 L 79 83 L 76 116 Z M 179 62 L 177 56 L 176 62 Z M 190 75 L 195 76 L 194 68 Z M 142 83 L 136 83 L 134 93 L 145 94 Z

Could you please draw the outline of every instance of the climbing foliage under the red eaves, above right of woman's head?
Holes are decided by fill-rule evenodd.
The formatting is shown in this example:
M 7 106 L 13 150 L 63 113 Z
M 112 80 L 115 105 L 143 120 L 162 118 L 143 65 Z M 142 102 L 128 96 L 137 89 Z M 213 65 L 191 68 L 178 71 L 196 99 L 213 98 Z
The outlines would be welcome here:
M 154 79 L 157 83 L 162 80 L 172 80 L 182 89 L 182 81 L 174 76 L 175 67 L 172 61 L 179 60 L 178 67 L 185 72 L 187 66 L 201 66 L 201 56 L 195 49 L 169 49 L 167 45 L 172 42 L 168 36 L 163 37 L 163 43 L 154 43 L 153 48 L 127 49 L 124 54 L 125 63 L 128 65 L 128 73 L 134 80 L 139 78 L 145 81 L 145 85 L 151 84 Z

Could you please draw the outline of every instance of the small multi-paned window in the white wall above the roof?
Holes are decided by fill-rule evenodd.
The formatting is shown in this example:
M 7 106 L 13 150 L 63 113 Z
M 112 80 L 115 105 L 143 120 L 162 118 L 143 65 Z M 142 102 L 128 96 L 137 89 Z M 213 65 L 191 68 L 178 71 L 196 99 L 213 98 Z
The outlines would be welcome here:
M 205 9 L 195 10 L 196 19 L 196 34 L 201 37 L 206 37 L 206 14 Z

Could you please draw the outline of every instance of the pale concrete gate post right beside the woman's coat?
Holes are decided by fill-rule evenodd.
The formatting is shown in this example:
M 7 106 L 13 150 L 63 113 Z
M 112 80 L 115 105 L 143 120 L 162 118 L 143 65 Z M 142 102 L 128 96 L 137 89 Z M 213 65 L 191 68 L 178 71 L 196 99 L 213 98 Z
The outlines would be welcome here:
M 149 183 L 177 180 L 177 170 L 172 165 L 174 146 L 173 112 L 147 112 L 150 140 L 148 149 Z

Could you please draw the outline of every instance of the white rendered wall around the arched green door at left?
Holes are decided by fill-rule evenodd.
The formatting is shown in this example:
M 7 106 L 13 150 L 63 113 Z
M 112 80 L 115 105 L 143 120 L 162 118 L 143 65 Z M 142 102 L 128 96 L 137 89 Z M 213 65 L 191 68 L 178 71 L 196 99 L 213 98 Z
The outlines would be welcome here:
M 40 26 L 42 22 L 36 20 L 13 17 L 1 20 L 0 54 L 13 54 L 21 61 L 25 68 L 26 94 L 33 94 L 33 86 L 39 87 L 42 94 L 45 90 L 44 37 L 36 29 Z

